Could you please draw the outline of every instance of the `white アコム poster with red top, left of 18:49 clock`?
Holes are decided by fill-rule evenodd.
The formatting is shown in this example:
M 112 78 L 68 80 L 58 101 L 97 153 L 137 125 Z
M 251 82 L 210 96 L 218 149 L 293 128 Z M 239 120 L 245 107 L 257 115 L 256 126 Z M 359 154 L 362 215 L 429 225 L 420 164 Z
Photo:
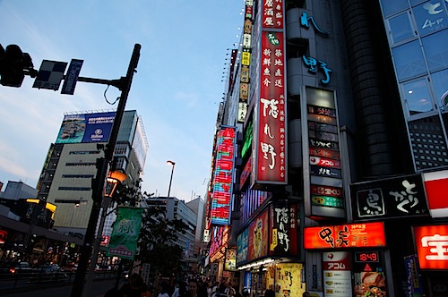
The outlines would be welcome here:
M 351 296 L 351 267 L 348 251 L 323 253 L 323 292 L 329 297 Z

